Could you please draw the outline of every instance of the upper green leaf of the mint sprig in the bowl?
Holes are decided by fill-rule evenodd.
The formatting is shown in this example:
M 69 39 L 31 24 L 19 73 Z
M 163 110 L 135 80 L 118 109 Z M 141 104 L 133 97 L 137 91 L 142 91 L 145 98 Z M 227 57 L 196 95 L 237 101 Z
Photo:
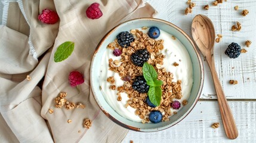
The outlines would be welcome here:
M 144 79 L 148 81 L 154 81 L 158 78 L 158 73 L 151 64 L 144 63 L 142 67 Z

